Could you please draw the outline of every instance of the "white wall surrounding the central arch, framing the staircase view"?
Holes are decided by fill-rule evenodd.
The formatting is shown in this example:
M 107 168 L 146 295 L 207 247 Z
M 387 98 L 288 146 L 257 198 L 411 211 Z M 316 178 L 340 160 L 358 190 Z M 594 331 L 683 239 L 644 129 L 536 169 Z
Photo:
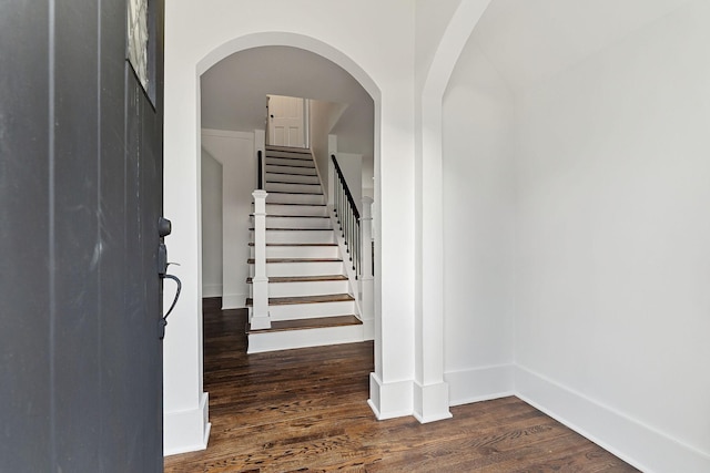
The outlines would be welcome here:
M 274 11 L 280 14 L 275 16 Z M 165 6 L 165 215 L 183 279 L 164 343 L 165 451 L 204 444 L 202 393 L 199 76 L 236 51 L 286 44 L 336 62 L 375 101 L 381 256 L 375 273 L 375 373 L 381 418 L 412 413 L 414 371 L 414 6 L 382 2 L 173 0 Z M 363 28 L 367 25 L 367 28 Z M 226 212 L 226 210 L 225 210 Z M 202 418 L 200 418 L 202 415 Z M 187 417 L 190 422 L 179 422 Z M 201 422 L 197 422 L 201 421 Z

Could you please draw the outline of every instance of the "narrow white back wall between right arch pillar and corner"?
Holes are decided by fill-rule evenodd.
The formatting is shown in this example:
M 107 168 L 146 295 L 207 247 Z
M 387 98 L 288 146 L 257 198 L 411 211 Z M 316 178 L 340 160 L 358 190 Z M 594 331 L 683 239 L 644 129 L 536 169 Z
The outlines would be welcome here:
M 444 362 L 452 404 L 513 392 L 514 105 L 470 39 L 443 105 Z

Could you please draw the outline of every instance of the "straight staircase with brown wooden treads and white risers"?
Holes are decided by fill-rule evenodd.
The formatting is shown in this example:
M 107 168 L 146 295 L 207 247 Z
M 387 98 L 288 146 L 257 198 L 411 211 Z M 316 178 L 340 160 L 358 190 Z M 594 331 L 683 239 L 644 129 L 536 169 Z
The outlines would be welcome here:
M 247 326 L 248 352 L 364 340 L 351 281 L 308 150 L 266 146 L 266 276 L 271 328 Z M 252 228 L 250 275 L 254 276 Z M 247 279 L 252 284 L 252 278 Z M 246 300 L 250 320 L 253 301 Z

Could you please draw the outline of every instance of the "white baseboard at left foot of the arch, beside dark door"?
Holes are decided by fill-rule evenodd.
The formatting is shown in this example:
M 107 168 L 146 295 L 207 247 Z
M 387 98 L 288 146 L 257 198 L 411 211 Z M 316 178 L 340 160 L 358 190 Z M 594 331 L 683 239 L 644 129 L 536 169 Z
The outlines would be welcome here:
M 196 452 L 207 448 L 212 429 L 209 422 L 209 394 L 203 392 L 196 409 L 164 413 L 164 456 Z

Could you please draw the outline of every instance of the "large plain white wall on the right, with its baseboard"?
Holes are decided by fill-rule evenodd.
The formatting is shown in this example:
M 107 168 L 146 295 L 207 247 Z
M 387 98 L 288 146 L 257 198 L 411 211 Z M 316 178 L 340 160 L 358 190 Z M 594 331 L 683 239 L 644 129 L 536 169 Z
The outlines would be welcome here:
M 710 3 L 518 107 L 516 389 L 645 471 L 710 471 Z

